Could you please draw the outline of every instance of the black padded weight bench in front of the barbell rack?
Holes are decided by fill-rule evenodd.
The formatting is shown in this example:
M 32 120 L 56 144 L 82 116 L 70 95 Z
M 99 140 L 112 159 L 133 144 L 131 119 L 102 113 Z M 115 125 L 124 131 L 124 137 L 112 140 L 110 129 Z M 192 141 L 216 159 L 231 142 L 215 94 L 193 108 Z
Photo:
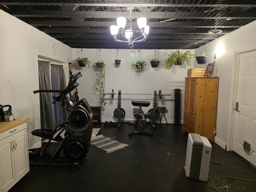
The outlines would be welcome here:
M 139 106 L 139 108 L 138 107 L 133 108 L 134 117 L 137 118 L 136 125 L 139 130 L 131 131 L 129 133 L 129 136 L 132 136 L 132 134 L 147 134 L 150 137 L 152 137 L 153 134 L 151 132 L 145 131 L 145 129 L 147 128 L 147 124 L 146 124 L 147 120 L 146 120 L 145 116 L 148 116 L 148 114 L 144 113 L 142 110 L 142 107 L 148 107 L 150 105 L 150 102 L 148 102 L 148 101 L 132 101 L 132 105 Z

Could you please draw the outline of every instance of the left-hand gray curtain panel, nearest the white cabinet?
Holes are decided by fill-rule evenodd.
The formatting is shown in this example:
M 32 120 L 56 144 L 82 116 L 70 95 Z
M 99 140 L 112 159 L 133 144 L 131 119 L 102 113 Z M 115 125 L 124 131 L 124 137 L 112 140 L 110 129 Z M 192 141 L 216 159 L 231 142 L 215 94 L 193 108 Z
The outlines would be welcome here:
M 49 62 L 38 60 L 39 89 L 51 89 Z M 41 129 L 53 129 L 52 94 L 40 93 Z

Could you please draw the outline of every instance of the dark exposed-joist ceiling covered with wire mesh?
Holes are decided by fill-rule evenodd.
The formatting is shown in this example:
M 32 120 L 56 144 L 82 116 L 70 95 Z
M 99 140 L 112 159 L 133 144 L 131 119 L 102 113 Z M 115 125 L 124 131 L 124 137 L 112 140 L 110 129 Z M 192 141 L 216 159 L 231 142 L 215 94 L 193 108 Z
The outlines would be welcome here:
M 256 0 L 2 0 L 0 9 L 72 48 L 127 49 L 110 26 L 147 18 L 148 38 L 134 49 L 194 49 L 256 20 Z M 126 23 L 128 28 L 128 23 Z M 212 33 L 210 33 L 212 31 Z

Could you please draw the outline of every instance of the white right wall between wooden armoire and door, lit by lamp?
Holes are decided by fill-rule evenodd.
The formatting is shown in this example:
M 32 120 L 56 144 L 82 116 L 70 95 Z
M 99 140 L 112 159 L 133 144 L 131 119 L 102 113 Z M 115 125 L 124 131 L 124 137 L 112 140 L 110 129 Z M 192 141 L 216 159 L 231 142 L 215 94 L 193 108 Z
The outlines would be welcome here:
M 209 56 L 205 65 L 194 64 L 195 68 L 206 68 L 208 63 L 214 61 L 216 53 L 216 75 L 219 79 L 218 107 L 217 107 L 217 133 L 215 142 L 222 148 L 228 144 L 231 129 L 230 115 L 234 103 L 230 103 L 232 94 L 233 70 L 235 67 L 234 52 L 256 48 L 256 21 L 243 26 L 234 32 L 222 36 L 204 45 L 206 54 Z M 195 50 L 198 55 L 200 48 Z

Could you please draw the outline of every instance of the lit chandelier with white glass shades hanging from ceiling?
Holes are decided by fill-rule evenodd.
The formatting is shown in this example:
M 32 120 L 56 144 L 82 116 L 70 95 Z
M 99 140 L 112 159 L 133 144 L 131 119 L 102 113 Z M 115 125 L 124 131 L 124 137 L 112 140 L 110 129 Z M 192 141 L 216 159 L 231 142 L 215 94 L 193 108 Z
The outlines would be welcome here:
M 132 30 L 132 11 L 135 9 L 134 6 L 127 7 L 126 10 L 130 11 L 130 17 L 128 20 L 130 21 L 130 29 L 125 30 L 126 26 L 126 18 L 118 17 L 116 19 L 117 25 L 110 26 L 110 33 L 113 36 L 115 41 L 118 42 L 127 42 L 128 46 L 132 49 L 135 42 L 145 41 L 148 37 L 149 26 L 147 24 L 147 20 L 145 17 L 140 17 L 137 19 L 137 24 L 139 30 Z M 134 37 L 134 39 L 132 39 Z

